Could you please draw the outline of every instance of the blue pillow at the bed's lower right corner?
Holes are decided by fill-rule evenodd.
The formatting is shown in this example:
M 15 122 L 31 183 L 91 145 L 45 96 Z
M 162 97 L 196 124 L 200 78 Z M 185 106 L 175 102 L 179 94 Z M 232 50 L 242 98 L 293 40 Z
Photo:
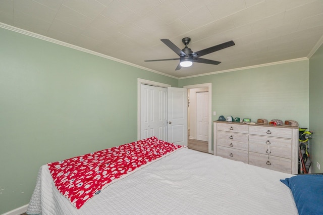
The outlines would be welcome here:
M 300 215 L 323 214 L 323 175 L 297 175 L 281 182 L 291 189 Z

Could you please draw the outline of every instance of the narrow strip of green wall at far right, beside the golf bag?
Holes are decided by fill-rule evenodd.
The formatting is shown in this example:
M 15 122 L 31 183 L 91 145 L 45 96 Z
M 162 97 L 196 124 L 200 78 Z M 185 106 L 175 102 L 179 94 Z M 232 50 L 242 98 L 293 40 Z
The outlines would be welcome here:
M 309 129 L 313 131 L 310 140 L 313 173 L 323 173 L 323 45 L 309 60 Z M 316 163 L 320 164 L 320 169 Z

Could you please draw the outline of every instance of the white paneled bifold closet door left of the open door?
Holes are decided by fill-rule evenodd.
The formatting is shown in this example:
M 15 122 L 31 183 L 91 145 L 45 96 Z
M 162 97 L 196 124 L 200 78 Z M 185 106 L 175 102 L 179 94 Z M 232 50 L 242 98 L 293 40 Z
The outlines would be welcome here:
M 141 139 L 167 141 L 167 89 L 141 84 Z

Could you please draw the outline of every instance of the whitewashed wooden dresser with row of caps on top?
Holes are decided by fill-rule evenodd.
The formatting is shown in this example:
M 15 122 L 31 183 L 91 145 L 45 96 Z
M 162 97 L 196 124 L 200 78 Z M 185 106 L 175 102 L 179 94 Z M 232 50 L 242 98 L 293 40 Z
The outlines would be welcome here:
M 214 155 L 298 174 L 298 127 L 214 121 Z

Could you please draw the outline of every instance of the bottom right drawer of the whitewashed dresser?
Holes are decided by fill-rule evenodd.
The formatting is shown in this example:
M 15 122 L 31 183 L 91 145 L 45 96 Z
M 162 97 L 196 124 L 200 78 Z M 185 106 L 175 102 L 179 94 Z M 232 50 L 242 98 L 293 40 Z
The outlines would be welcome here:
M 283 173 L 292 173 L 292 160 L 282 157 L 269 156 L 268 159 L 268 155 L 249 152 L 249 164 Z

